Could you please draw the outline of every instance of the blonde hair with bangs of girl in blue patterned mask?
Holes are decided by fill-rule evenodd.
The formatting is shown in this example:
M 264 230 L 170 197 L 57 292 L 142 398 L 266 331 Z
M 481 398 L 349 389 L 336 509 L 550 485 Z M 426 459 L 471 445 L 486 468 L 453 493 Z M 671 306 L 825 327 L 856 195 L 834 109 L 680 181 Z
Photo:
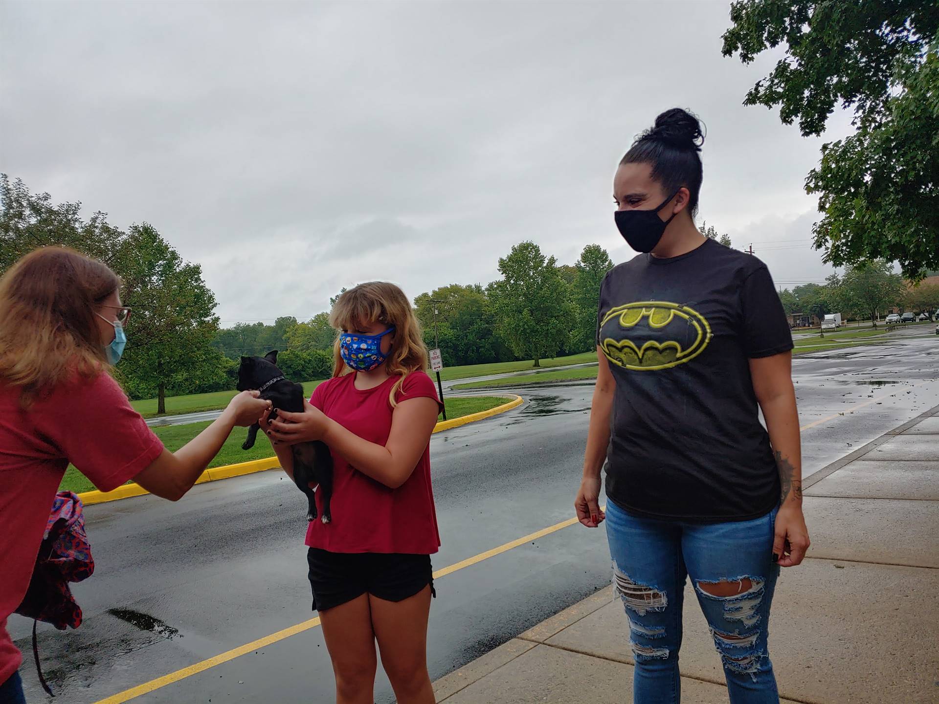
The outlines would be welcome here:
M 427 347 L 423 344 L 421 324 L 405 292 L 393 283 L 360 283 L 343 293 L 332 306 L 330 325 L 337 330 L 362 329 L 372 323 L 394 326 L 394 342 L 385 362 L 389 375 L 400 376 L 388 398 L 394 407 L 397 406 L 394 397 L 405 377 L 427 368 Z M 332 376 L 346 375 L 350 371 L 343 361 L 337 337 L 333 345 Z

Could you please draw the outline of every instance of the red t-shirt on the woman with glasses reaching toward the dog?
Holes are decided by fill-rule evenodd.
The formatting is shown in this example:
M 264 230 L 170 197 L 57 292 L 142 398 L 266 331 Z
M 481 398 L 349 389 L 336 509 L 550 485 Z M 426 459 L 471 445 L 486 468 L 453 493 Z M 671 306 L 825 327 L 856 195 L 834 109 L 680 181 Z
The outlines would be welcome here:
M 0 683 L 20 666 L 7 617 L 23 601 L 69 462 L 101 491 L 111 491 L 162 450 L 107 374 L 62 384 L 26 411 L 20 388 L 0 383 Z

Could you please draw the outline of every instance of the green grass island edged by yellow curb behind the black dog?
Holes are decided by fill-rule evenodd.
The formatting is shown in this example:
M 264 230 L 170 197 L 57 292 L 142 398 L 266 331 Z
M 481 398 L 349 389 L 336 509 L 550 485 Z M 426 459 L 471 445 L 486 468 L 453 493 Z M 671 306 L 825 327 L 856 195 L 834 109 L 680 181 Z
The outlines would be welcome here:
M 316 382 L 314 382 L 316 383 Z M 208 394 L 206 394 L 208 395 Z M 454 419 L 462 416 L 469 416 L 470 413 L 479 413 L 495 408 L 502 404 L 509 403 L 509 399 L 499 398 L 497 396 L 472 396 L 469 398 L 451 398 L 444 402 L 447 407 L 447 418 Z M 208 427 L 211 421 L 186 423 L 184 425 L 166 425 L 162 428 L 154 428 L 153 432 L 163 441 L 166 449 L 174 452 L 199 435 Z M 267 437 L 258 436 L 257 442 L 251 450 L 241 450 L 241 443 L 248 435 L 247 428 L 235 428 L 232 434 L 228 436 L 222 450 L 215 455 L 208 467 L 223 467 L 224 465 L 237 465 L 239 462 L 250 462 L 251 460 L 260 460 L 265 457 L 273 457 L 274 452 L 270 449 L 270 443 Z M 69 465 L 65 477 L 59 489 L 63 491 L 73 491 L 81 494 L 83 491 L 91 491 L 94 485 L 85 479 L 85 475 L 79 472 L 75 467 Z

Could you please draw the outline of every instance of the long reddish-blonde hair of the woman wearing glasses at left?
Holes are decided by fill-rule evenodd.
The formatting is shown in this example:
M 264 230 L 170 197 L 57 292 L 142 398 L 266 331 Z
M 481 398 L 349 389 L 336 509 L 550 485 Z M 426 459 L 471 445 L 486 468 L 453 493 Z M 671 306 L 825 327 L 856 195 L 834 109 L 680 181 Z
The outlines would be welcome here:
M 71 375 L 107 369 L 95 310 L 120 286 L 99 261 L 65 247 L 26 254 L 0 279 L 0 382 L 29 406 Z

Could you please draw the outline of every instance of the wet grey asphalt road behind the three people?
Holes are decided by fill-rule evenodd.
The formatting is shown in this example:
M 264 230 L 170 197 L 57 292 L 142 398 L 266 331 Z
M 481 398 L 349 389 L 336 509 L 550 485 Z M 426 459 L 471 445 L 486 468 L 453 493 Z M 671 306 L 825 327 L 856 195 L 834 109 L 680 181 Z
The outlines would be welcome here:
M 807 476 L 939 404 L 939 336 L 917 332 L 889 345 L 796 358 L 802 424 L 824 420 L 803 434 Z M 592 390 L 589 383 L 520 387 L 524 406 L 434 436 L 443 541 L 435 569 L 573 515 Z M 196 486 L 175 504 L 139 497 L 88 507 L 97 571 L 74 586 L 85 623 L 66 633 L 39 629 L 58 700 L 96 702 L 314 616 L 304 503 L 280 472 L 269 471 Z M 431 677 L 606 586 L 608 566 L 603 532 L 572 526 L 440 578 Z M 9 625 L 28 652 L 31 624 L 12 617 Z M 21 671 L 28 700 L 45 700 L 31 657 Z M 332 697 L 329 658 L 312 628 L 135 701 Z M 393 701 L 380 667 L 376 701 Z

